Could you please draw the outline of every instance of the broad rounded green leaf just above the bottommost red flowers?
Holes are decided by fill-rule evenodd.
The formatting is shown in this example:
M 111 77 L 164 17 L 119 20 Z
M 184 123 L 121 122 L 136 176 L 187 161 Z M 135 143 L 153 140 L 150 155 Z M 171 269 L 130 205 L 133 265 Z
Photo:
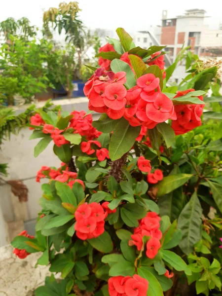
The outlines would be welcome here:
M 111 266 L 109 275 L 110 276 L 133 276 L 135 272 L 135 266 L 132 262 L 129 262 L 127 260 L 122 260 L 120 262 L 117 262 Z

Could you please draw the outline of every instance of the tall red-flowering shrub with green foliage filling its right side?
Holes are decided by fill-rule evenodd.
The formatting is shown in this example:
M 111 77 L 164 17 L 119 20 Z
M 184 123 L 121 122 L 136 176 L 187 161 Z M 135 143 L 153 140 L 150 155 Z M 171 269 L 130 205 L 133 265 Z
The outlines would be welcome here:
M 220 126 L 200 126 L 214 76 L 206 87 L 199 73 L 187 90 L 166 86 L 173 65 L 164 70 L 163 47 L 145 50 L 117 34 L 85 84 L 87 114 L 37 109 L 31 118 L 30 138 L 41 138 L 35 157 L 53 141 L 62 163 L 37 172 L 49 182 L 36 236 L 17 236 L 14 252 L 42 252 L 37 264 L 61 272 L 36 296 L 174 296 L 182 282 L 195 282 L 191 295 L 219 295 Z M 103 114 L 92 121 L 91 111 Z

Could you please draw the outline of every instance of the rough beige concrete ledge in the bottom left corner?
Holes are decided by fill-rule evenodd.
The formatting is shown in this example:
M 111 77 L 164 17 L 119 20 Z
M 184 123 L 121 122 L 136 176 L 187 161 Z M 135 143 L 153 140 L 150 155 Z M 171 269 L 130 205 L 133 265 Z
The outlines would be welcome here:
M 48 266 L 35 268 L 41 253 L 19 259 L 12 252 L 11 245 L 0 248 L 0 296 L 35 296 L 36 288 L 51 274 Z

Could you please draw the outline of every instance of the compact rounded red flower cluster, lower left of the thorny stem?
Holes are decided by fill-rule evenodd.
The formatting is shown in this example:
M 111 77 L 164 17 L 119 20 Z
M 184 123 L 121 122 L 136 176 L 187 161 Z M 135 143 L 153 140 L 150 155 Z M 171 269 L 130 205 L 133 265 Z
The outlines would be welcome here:
M 101 204 L 92 202 L 80 205 L 75 211 L 75 230 L 78 238 L 82 240 L 98 237 L 104 231 L 104 219 L 107 213 Z

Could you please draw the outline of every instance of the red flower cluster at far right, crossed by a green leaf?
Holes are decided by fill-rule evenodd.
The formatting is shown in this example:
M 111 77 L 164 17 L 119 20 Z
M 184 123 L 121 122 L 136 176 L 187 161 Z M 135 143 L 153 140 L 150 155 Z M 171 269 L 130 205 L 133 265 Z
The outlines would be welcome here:
M 194 91 L 194 89 L 178 91 L 174 98 L 184 96 L 191 91 Z M 203 101 L 203 96 L 199 96 L 198 98 Z M 174 129 L 176 135 L 185 134 L 195 127 L 201 125 L 200 116 L 203 113 L 204 105 L 177 105 L 174 108 L 177 114 L 177 120 L 173 120 L 171 126 Z

